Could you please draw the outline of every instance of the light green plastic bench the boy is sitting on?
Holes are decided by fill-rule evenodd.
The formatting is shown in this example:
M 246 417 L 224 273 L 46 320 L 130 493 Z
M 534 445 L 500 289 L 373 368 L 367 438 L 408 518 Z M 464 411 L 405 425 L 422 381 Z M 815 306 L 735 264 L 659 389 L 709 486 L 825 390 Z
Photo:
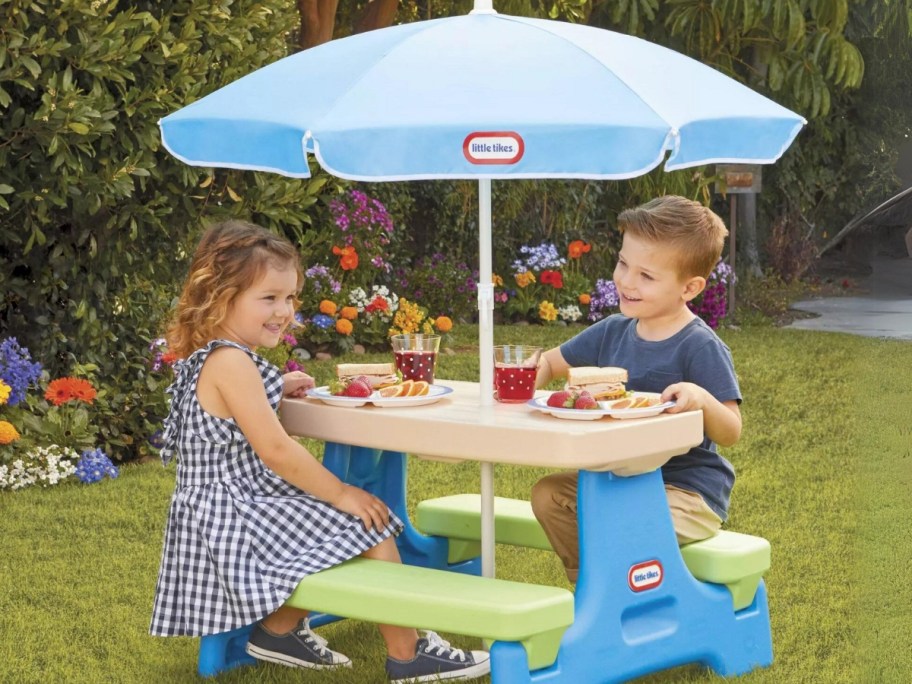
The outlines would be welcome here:
M 455 494 L 418 504 L 415 527 L 424 534 L 450 540 L 449 562 L 477 556 L 481 539 L 481 498 Z M 551 543 L 528 501 L 494 497 L 494 540 L 499 544 L 551 549 Z M 681 547 L 691 574 L 703 582 L 722 584 L 735 610 L 754 600 L 760 579 L 770 567 L 770 545 L 762 537 L 721 530 L 715 537 Z

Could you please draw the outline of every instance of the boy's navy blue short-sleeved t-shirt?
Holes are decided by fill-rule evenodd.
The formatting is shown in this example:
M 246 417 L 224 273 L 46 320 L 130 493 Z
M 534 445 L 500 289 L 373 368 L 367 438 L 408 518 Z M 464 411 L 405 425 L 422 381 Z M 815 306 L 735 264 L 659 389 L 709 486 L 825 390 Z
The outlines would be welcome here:
M 741 403 L 731 350 L 712 328 L 695 318 L 667 340 L 650 342 L 636 332 L 637 320 L 615 314 L 561 345 L 571 366 L 626 368 L 627 389 L 662 392 L 676 382 L 699 385 L 721 402 Z M 666 484 L 697 492 L 725 520 L 735 470 L 704 435 L 703 443 L 662 466 Z

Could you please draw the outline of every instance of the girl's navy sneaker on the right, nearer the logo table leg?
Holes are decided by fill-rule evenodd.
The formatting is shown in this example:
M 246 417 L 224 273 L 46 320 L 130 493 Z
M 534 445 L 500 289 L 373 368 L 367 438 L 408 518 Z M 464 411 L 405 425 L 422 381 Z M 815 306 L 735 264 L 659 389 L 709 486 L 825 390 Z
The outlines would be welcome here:
M 466 654 L 436 633 L 425 632 L 418 639 L 415 657 L 411 660 L 387 657 L 386 674 L 391 684 L 475 679 L 491 671 L 490 657 L 487 651 Z

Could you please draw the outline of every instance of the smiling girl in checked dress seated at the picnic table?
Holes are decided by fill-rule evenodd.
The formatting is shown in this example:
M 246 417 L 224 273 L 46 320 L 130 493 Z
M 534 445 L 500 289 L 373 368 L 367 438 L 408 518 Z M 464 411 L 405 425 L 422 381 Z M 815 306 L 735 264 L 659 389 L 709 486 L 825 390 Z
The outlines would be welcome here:
M 254 353 L 278 344 L 303 273 L 294 247 L 228 221 L 200 241 L 168 344 L 181 361 L 168 388 L 162 460 L 177 457 L 151 633 L 200 636 L 256 622 L 247 652 L 293 667 L 351 666 L 283 606 L 302 577 L 355 556 L 400 562 L 402 522 L 346 485 L 279 423 L 282 396 L 313 385 Z M 489 670 L 433 632 L 380 625 L 394 682 L 468 679 Z

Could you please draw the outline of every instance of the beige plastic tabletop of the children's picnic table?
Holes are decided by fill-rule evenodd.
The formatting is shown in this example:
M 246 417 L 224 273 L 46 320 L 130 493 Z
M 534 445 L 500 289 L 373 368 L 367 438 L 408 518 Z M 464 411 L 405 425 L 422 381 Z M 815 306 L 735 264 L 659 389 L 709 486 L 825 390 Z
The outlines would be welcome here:
M 629 420 L 561 420 L 526 404 L 483 407 L 477 382 L 438 379 L 437 384 L 453 392 L 423 406 L 355 408 L 312 398 L 284 399 L 282 424 L 293 435 L 436 459 L 618 475 L 654 470 L 703 441 L 698 411 Z

